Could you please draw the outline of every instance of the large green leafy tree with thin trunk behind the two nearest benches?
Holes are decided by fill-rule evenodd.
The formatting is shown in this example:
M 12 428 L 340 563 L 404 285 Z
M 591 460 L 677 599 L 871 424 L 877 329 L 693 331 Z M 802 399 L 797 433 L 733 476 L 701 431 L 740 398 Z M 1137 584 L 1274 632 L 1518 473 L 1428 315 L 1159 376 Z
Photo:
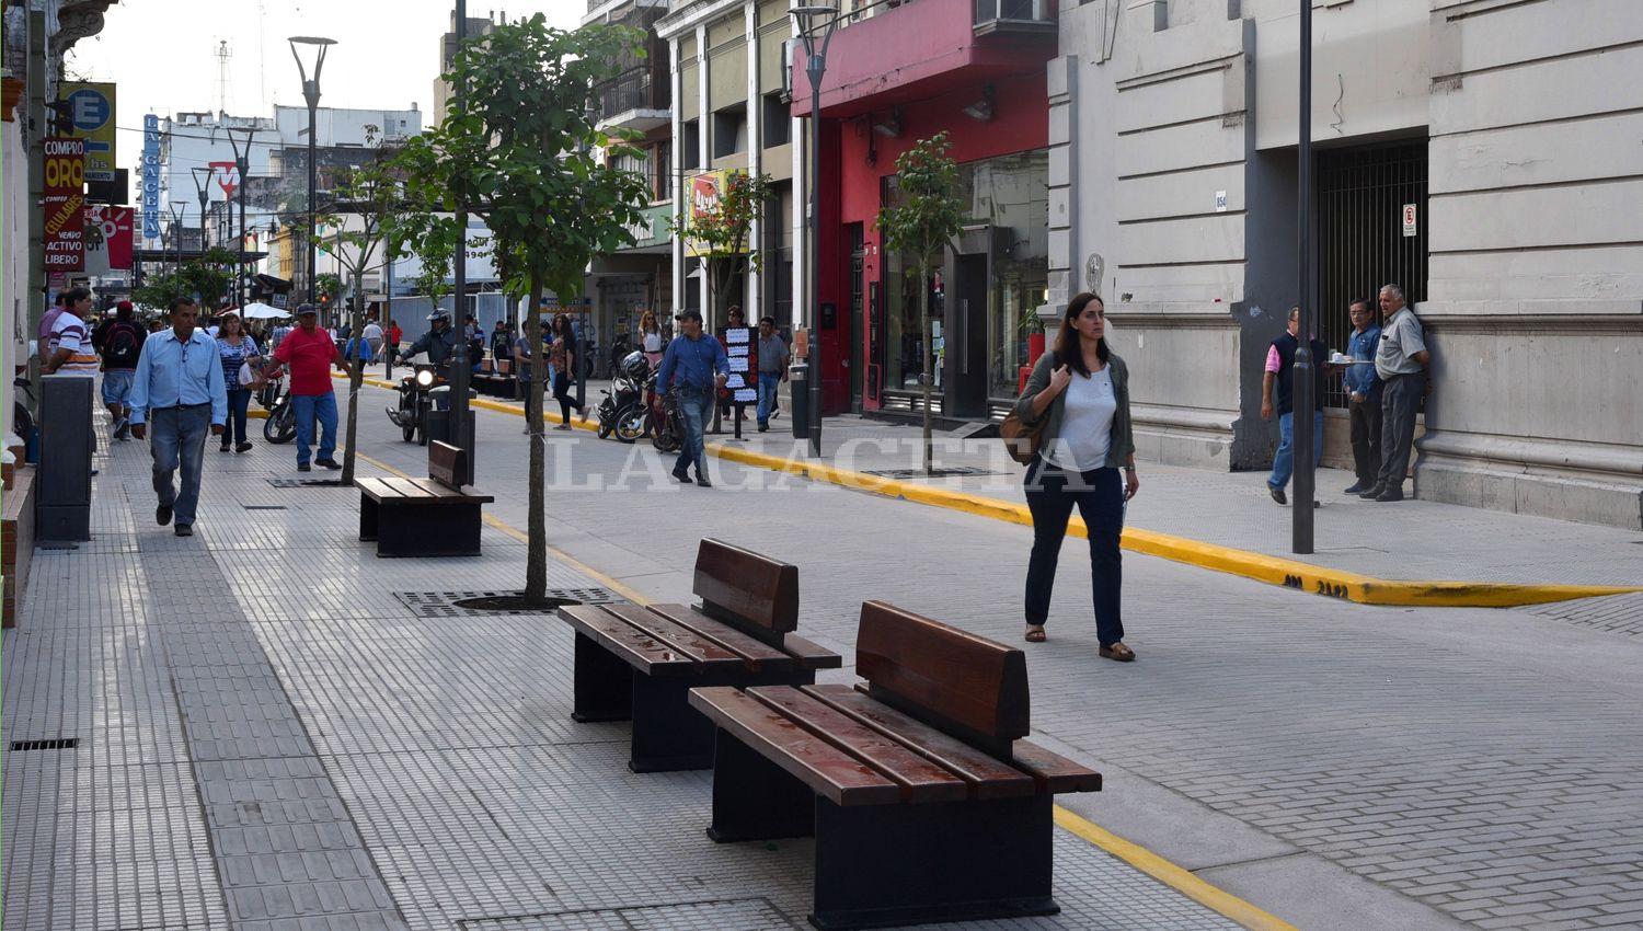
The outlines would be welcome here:
M 529 300 L 531 346 L 542 345 L 536 312 L 542 292 L 582 292 L 588 263 L 633 245 L 631 230 L 649 204 L 646 179 L 616 167 L 619 156 L 637 149 L 629 136 L 601 131 L 588 105 L 595 89 L 614 77 L 616 62 L 644 54 L 642 43 L 644 33 L 623 26 L 550 28 L 541 13 L 496 26 L 457 49 L 445 76 L 465 89 L 463 105 L 412 138 L 398 159 L 416 200 L 485 218 L 503 291 Z M 449 236 L 450 225 L 430 228 Z M 531 410 L 542 409 L 542 369 L 537 358 Z M 544 456 L 536 419 L 524 591 L 534 603 L 547 596 Z

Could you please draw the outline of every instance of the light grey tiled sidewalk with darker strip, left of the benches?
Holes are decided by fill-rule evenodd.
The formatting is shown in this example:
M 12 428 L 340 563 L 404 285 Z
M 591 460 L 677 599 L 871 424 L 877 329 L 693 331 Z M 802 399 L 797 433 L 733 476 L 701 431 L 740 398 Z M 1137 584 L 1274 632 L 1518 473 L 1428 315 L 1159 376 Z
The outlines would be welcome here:
M 365 447 L 412 450 L 376 420 Z M 568 627 L 401 598 L 516 588 L 513 537 L 378 560 L 355 491 L 276 488 L 292 450 L 258 443 L 207 448 L 177 539 L 145 447 L 102 447 L 94 540 L 36 557 L 3 635 L 5 739 L 77 741 L 5 755 L 8 931 L 805 926 L 807 841 L 713 844 L 708 773 L 633 775 L 624 726 L 570 721 Z M 974 928 L 1232 926 L 1065 831 L 1055 893 Z

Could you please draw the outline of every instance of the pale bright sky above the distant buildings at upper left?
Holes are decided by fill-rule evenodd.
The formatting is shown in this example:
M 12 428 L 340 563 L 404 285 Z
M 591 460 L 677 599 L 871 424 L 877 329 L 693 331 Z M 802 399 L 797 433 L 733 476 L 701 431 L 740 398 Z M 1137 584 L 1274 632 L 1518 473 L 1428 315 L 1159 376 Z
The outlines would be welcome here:
M 122 0 L 99 36 L 69 53 L 71 79 L 117 84 L 117 163 L 131 169 L 143 149 L 143 113 L 227 110 L 273 117 L 274 103 L 302 105 L 302 82 L 286 36 L 337 39 L 320 76 L 320 107 L 427 113 L 439 76 L 439 39 L 452 0 Z M 545 13 L 575 28 L 583 0 L 468 0 L 468 16 L 509 20 Z M 217 49 L 227 39 L 227 92 Z M 424 118 L 426 120 L 426 118 Z

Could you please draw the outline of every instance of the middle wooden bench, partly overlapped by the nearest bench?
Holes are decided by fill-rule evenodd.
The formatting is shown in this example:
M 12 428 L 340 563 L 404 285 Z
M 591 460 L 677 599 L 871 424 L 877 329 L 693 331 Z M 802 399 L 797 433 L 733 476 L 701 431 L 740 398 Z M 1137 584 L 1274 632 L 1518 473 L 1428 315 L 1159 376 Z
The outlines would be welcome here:
M 693 711 L 697 685 L 808 685 L 841 658 L 798 627 L 798 568 L 702 540 L 693 591 L 682 604 L 560 608 L 577 631 L 572 718 L 633 719 L 633 772 L 713 765 L 713 724 Z

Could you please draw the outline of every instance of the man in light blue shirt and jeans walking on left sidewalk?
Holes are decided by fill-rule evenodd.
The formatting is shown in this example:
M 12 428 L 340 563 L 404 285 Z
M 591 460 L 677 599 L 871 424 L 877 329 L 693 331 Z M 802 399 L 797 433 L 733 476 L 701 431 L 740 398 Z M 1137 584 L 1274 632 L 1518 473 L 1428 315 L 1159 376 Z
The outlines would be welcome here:
M 131 379 L 131 435 L 146 438 L 153 424 L 150 455 L 154 456 L 154 493 L 161 527 L 177 519 L 177 535 L 194 535 L 194 509 L 200 499 L 200 466 L 205 461 L 205 433 L 220 437 L 228 422 L 228 384 L 223 379 L 217 342 L 196 330 L 199 307 L 187 297 L 171 299 L 171 328 L 143 342 Z M 182 489 L 173 484 L 182 468 Z

